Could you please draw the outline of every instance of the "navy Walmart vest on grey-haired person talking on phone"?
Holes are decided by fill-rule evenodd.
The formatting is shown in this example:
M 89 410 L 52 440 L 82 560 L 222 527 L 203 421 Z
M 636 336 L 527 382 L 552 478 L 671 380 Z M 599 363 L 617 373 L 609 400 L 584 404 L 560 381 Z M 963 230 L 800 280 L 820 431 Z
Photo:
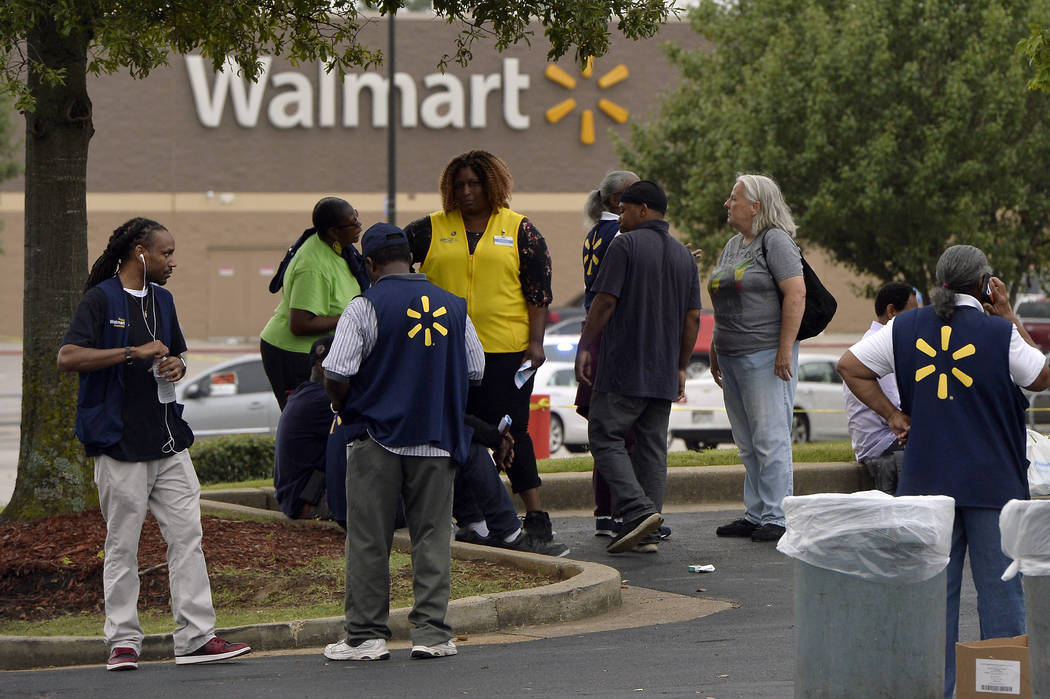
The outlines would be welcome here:
M 942 494 L 958 507 L 1028 499 L 1027 401 L 1010 378 L 1010 322 L 957 306 L 894 319 L 901 410 L 911 416 L 898 495 Z

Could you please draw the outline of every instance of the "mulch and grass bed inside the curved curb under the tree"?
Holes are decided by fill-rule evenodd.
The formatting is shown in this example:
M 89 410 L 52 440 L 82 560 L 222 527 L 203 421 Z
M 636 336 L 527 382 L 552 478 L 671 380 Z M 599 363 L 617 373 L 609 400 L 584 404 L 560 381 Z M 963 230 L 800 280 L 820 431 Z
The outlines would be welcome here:
M 318 558 L 343 557 L 344 534 L 336 529 L 282 523 L 240 522 L 203 515 L 202 548 L 212 596 L 232 608 L 264 609 L 342 601 L 342 566 Z M 106 523 L 99 510 L 35 522 L 0 524 L 0 619 L 37 621 L 66 614 L 102 613 Z M 147 514 L 139 539 L 139 610 L 169 609 L 167 545 Z M 247 576 L 246 576 L 247 574 Z M 453 585 L 461 594 L 492 584 L 513 590 L 551 581 L 534 570 L 488 560 L 453 560 Z M 412 595 L 412 567 L 392 571 L 392 597 Z

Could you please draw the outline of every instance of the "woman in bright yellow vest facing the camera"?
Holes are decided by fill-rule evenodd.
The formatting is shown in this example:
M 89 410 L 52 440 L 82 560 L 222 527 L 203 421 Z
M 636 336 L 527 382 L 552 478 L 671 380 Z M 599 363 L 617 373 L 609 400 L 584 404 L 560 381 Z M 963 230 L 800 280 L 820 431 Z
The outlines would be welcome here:
M 510 171 L 484 150 L 457 155 L 441 173 L 441 211 L 408 224 L 404 232 L 420 271 L 466 299 L 485 350 L 485 378 L 470 388 L 467 412 L 490 424 L 511 419 L 514 460 L 507 470 L 525 505 L 525 533 L 551 541 L 550 516 L 540 506 L 540 475 L 528 435 L 532 378 L 520 387 L 525 362 L 544 362 L 543 332 L 550 305 L 550 254 L 540 232 L 511 211 Z

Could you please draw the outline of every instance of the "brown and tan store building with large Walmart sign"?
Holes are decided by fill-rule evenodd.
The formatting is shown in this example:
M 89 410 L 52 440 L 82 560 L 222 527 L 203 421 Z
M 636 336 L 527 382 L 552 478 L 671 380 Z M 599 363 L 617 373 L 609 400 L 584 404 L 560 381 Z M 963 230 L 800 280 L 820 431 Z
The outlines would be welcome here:
M 547 63 L 538 26 L 534 47 L 498 54 L 479 45 L 468 67 L 442 75 L 437 62 L 452 50 L 455 30 L 428 17 L 397 22 L 396 223 L 440 209 L 438 177 L 449 158 L 489 150 L 513 174 L 511 207 L 547 238 L 554 305 L 567 302 L 583 289 L 584 200 L 621 167 L 611 134 L 626 136 L 631 122 L 653 119 L 673 87 L 676 71 L 660 45 L 702 40 L 686 23 L 670 23 L 649 41 L 614 38 L 608 55 L 582 72 L 571 59 Z M 385 20 L 369 24 L 361 39 L 385 47 Z M 365 226 L 385 219 L 386 83 L 385 69 L 339 80 L 316 64 L 275 59 L 257 83 L 246 84 L 235 69 L 216 73 L 194 56 L 172 57 L 147 80 L 91 81 L 89 262 L 122 221 L 155 218 L 175 236 L 178 268 L 168 285 L 186 336 L 257 337 L 278 300 L 267 290 L 270 277 L 310 226 L 318 198 L 350 200 Z M 12 301 L 0 309 L 0 335 L 7 337 L 22 332 L 21 303 L 14 302 L 22 298 L 22 188 L 21 179 L 0 183 L 0 294 Z M 731 233 L 727 227 L 727 239 Z M 828 266 L 815 247 L 806 253 L 840 299 L 830 331 L 859 335 L 872 309 L 847 287 L 854 276 Z

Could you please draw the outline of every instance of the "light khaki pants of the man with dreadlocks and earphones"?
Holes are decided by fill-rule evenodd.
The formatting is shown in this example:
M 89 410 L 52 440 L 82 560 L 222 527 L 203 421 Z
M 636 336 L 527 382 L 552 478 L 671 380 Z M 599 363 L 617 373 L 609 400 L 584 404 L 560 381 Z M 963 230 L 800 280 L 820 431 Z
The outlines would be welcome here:
M 215 635 L 215 611 L 201 550 L 201 483 L 189 451 L 133 463 L 97 457 L 94 484 L 106 520 L 102 575 L 106 643 L 110 650 L 121 647 L 142 652 L 139 535 L 148 507 L 168 544 L 175 655 L 192 653 Z

